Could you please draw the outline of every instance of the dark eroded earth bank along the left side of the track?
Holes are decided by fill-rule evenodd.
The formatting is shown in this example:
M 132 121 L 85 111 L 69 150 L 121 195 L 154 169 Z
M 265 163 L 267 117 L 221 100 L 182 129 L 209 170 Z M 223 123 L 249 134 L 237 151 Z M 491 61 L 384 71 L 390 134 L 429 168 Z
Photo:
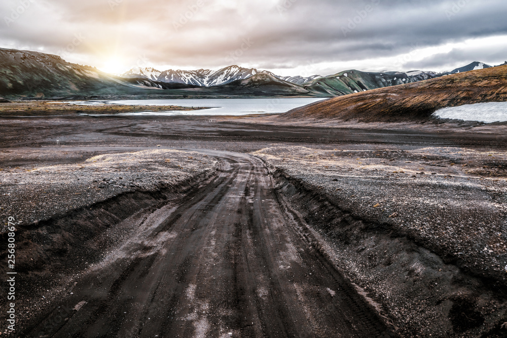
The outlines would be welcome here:
M 178 185 L 157 191 L 127 192 L 64 215 L 18 226 L 16 231 L 16 278 L 19 327 L 30 323 L 44 304 L 65 294 L 77 274 L 101 261 L 142 224 L 147 215 L 170 203 L 192 197 L 214 173 L 202 173 Z M 132 220 L 137 220 L 132 221 Z M 7 246 L 7 237 L 0 245 Z M 0 260 L 6 259 L 2 252 Z M 1 286 L 5 289 L 5 285 Z

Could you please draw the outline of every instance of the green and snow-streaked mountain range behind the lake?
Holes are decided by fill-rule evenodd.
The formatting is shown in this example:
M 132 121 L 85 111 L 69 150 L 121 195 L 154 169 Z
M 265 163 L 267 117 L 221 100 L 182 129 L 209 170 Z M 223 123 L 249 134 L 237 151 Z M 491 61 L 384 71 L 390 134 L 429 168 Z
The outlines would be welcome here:
M 218 71 L 134 68 L 121 77 L 40 52 L 0 49 L 0 97 L 5 98 L 228 98 L 333 97 L 428 80 L 473 69 L 473 62 L 450 72 L 363 72 L 330 76 L 280 77 L 266 70 L 229 66 Z

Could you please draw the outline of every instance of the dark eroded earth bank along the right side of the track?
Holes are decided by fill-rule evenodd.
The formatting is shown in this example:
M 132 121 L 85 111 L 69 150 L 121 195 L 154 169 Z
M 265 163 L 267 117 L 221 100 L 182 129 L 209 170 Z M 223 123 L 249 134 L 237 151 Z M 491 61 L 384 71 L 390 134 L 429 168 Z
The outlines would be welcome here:
M 462 271 L 388 223 L 342 210 L 330 196 L 270 166 L 279 194 L 309 224 L 319 250 L 380 304 L 401 336 L 504 336 L 503 283 Z

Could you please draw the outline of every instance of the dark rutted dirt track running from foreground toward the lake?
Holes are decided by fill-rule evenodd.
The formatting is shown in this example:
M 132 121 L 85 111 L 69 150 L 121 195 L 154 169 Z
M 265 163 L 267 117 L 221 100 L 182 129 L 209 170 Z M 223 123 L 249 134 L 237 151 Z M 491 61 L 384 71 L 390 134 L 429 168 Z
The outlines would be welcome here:
M 219 175 L 178 206 L 131 219 L 138 233 L 28 336 L 391 336 L 305 239 L 261 160 L 206 154 L 224 162 Z M 61 309 L 68 319 L 55 324 Z

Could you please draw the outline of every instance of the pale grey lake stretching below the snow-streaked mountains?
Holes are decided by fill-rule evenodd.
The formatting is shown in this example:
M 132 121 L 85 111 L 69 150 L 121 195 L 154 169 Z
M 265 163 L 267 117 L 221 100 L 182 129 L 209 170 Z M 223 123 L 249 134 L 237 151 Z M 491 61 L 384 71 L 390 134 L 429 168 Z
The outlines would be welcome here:
M 182 99 L 182 100 L 117 100 L 117 101 L 81 101 L 68 102 L 79 105 L 177 105 L 183 107 L 209 107 L 189 111 L 141 111 L 126 112 L 114 115 L 121 116 L 175 116 L 175 115 L 230 115 L 241 116 L 251 114 L 280 114 L 294 108 L 325 100 L 325 98 L 271 98 L 271 99 Z M 92 115 L 92 114 L 88 114 Z M 103 115 L 103 114 L 102 114 Z

